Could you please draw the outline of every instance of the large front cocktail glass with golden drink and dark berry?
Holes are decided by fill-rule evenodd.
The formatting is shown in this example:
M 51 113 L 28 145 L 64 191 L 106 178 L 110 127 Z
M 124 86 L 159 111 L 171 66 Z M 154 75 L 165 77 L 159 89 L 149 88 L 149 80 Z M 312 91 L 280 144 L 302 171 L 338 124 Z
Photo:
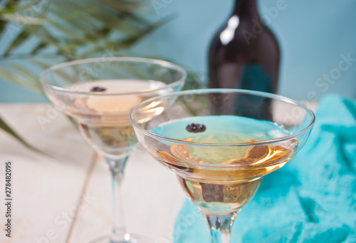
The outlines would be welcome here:
M 177 174 L 214 243 L 230 242 L 234 219 L 262 177 L 297 154 L 315 120 L 295 100 L 234 89 L 162 95 L 130 118 L 143 148 Z

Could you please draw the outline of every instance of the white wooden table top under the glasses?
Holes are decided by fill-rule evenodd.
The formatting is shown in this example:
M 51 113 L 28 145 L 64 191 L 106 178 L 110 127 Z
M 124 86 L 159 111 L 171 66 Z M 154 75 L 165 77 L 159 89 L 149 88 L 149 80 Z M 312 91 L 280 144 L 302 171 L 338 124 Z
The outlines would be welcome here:
M 53 155 L 33 152 L 0 130 L 0 242 L 89 242 L 108 234 L 108 168 L 69 120 L 49 104 L 2 103 L 0 115 L 28 143 Z M 11 238 L 4 231 L 6 161 L 12 165 Z M 174 173 L 140 148 L 127 162 L 123 200 L 129 232 L 155 242 L 172 239 L 184 193 Z

